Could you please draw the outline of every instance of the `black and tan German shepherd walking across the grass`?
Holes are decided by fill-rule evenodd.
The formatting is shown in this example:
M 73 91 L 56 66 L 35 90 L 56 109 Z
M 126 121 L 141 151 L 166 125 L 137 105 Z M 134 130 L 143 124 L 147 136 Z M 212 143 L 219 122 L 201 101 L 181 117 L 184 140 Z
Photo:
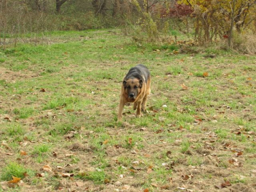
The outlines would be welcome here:
M 146 110 L 147 96 L 150 93 L 150 72 L 146 66 L 138 64 L 131 68 L 123 79 L 119 104 L 118 121 L 122 121 L 123 107 L 127 102 L 134 103 L 137 109 L 136 117 L 141 117 L 141 111 Z

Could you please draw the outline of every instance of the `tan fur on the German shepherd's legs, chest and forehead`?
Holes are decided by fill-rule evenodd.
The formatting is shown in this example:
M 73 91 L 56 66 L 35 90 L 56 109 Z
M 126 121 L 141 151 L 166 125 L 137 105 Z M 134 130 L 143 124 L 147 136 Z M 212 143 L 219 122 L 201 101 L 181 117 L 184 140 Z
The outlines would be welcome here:
M 144 77 L 142 77 L 144 78 Z M 145 78 L 144 78 L 145 79 Z M 147 83 L 143 81 L 142 87 L 140 87 L 140 81 L 137 78 L 130 78 L 126 81 L 126 85 L 129 85 L 131 88 L 134 88 L 134 86 L 137 86 L 137 96 L 135 99 L 128 98 L 128 90 L 124 88 L 124 85 L 122 85 L 121 89 L 121 98 L 120 98 L 120 104 L 119 104 L 119 112 L 118 112 L 118 121 L 122 120 L 122 112 L 123 107 L 127 102 L 132 102 L 133 109 L 137 109 L 136 111 L 136 117 L 141 117 L 141 111 L 146 110 L 146 103 L 147 103 L 147 96 L 150 93 L 150 76 L 147 79 Z

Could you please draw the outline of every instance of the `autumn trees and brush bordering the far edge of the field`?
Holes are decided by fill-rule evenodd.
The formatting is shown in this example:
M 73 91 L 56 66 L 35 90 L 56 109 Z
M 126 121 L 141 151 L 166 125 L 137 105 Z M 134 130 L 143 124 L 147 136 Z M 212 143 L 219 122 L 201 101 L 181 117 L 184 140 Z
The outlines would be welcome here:
M 1 38 L 23 33 L 119 26 L 129 26 L 133 31 L 136 27 L 135 31 L 145 32 L 149 39 L 175 29 L 192 33 L 198 44 L 223 39 L 232 48 L 244 41 L 237 38 L 239 35 L 254 36 L 256 0 L 0 1 Z

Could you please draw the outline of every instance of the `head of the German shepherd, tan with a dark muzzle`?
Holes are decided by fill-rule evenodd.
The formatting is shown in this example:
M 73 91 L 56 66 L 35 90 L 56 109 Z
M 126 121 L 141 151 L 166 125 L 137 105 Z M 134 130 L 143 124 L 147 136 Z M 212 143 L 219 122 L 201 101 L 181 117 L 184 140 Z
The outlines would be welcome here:
M 125 93 L 128 95 L 128 100 L 135 100 L 137 95 L 140 93 L 142 88 L 142 79 L 130 78 L 123 81 L 123 88 Z

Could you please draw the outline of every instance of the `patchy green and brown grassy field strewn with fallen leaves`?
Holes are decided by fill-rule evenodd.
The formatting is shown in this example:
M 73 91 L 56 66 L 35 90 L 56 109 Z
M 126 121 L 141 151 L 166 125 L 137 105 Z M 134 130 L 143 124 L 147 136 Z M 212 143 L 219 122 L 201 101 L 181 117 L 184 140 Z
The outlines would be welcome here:
M 173 40 L 70 31 L 1 50 L 0 191 L 255 192 L 256 56 Z M 147 113 L 116 123 L 140 63 Z

